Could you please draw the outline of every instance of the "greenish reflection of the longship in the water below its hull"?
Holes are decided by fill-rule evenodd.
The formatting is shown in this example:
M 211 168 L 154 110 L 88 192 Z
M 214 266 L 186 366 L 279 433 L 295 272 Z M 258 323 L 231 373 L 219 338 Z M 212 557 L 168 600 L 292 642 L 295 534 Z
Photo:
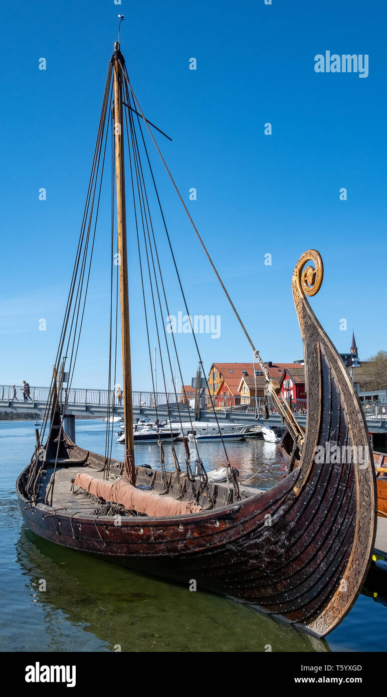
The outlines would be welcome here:
M 77 651 L 329 651 L 324 639 L 253 608 L 74 553 L 24 527 L 17 562 L 31 584 L 31 600 L 45 613 L 47 648 L 40 644 L 39 650 L 66 651 L 76 645 Z M 45 592 L 38 590 L 41 579 Z M 87 636 L 83 640 L 83 632 L 98 643 Z

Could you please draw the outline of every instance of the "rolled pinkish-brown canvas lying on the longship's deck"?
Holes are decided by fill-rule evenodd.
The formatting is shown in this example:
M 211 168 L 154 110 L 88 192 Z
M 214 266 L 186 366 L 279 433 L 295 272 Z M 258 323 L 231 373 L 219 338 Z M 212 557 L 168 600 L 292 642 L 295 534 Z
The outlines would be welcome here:
M 105 501 L 120 503 L 128 511 L 146 513 L 147 516 L 182 516 L 203 510 L 202 506 L 193 501 L 178 501 L 172 496 L 160 496 L 154 491 L 136 489 L 124 478 L 116 482 L 107 482 L 107 480 L 79 472 L 75 477 L 74 485 L 94 496 L 100 496 Z

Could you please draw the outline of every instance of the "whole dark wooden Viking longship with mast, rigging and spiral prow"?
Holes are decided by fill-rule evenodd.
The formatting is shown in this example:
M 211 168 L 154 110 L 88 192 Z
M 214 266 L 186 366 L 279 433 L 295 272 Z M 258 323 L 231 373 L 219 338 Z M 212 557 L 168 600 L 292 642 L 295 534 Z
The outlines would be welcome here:
M 305 252 L 296 263 L 292 279 L 305 355 L 308 418 L 304 430 L 282 399 L 278 383 L 269 378 L 266 365 L 183 203 L 155 135 L 160 139 L 165 134 L 144 116 L 120 45 L 116 43 L 107 71 L 96 150 L 50 397 L 31 461 L 17 479 L 17 496 L 24 521 L 34 533 L 57 544 L 121 560 L 128 567 L 177 583 L 189 585 L 195 579 L 198 588 L 251 604 L 311 634 L 324 636 L 348 613 L 361 590 L 374 545 L 376 507 L 372 451 L 361 406 L 335 346 L 307 299 L 321 287 L 324 273 L 321 256 L 315 250 Z M 193 451 L 185 441 L 183 459 L 178 457 L 173 441 L 170 455 L 169 446 L 166 454 L 159 443 L 160 468 L 150 468 L 141 461 L 135 463 L 128 240 L 137 248 L 139 256 L 139 296 L 144 305 L 144 336 L 150 366 L 152 323 L 157 330 L 160 355 L 163 353 L 166 357 L 162 376 L 165 381 L 167 369 L 171 370 L 178 408 L 179 396 L 172 369 L 175 354 L 182 384 L 183 376 L 174 334 L 166 334 L 162 321 L 169 315 L 169 307 L 159 254 L 161 236 L 171 254 L 176 284 L 190 316 L 172 247 L 172 234 L 153 174 L 147 145 L 150 142 L 160 155 L 204 253 L 250 342 L 254 360 L 266 377 L 266 399 L 270 399 L 282 415 L 293 438 L 287 475 L 267 491 L 247 487 L 239 480 L 236 468 L 229 463 L 225 443 L 227 476 L 224 482 L 213 482 L 208 477 L 199 453 L 199 439 L 194 442 Z M 109 385 L 114 385 L 117 331 L 121 330 L 126 436 L 122 462 L 112 457 L 114 425 L 110 417 L 114 415 L 114 390 L 107 406 L 105 454 L 78 447 L 63 427 L 69 392 L 63 390 L 63 368 L 68 374 L 69 388 L 82 330 L 106 165 L 111 170 L 112 259 L 115 249 L 119 259 L 117 266 L 112 261 L 109 277 L 108 379 Z M 130 236 L 127 236 L 128 190 Z M 157 224 L 151 213 L 151 199 L 158 215 Z M 139 307 L 138 298 L 135 307 Z M 120 316 L 121 327 L 117 320 Z M 192 341 L 203 367 L 195 332 L 192 332 Z M 184 402 L 189 405 L 187 399 Z M 156 399 L 155 405 L 157 408 Z M 214 405 L 213 413 L 217 420 Z M 185 421 L 193 418 L 190 408 L 188 416 L 184 411 L 180 418 Z M 168 419 L 170 422 L 169 413 Z M 369 466 L 359 464 L 353 456 L 344 461 L 321 463 L 316 452 L 321 449 L 325 452 L 327 443 L 345 447 L 346 452 L 363 447 Z

